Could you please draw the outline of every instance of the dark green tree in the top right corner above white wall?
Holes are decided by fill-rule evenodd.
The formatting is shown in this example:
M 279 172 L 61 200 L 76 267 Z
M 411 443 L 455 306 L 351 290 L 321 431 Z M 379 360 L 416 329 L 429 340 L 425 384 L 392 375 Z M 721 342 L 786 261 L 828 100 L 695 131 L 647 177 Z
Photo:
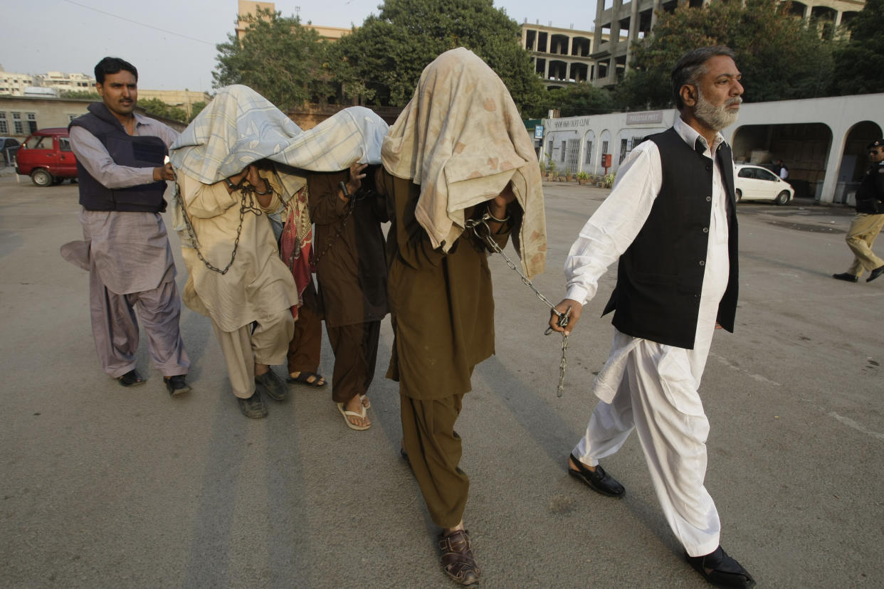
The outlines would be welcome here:
M 850 41 L 834 52 L 834 94 L 884 92 L 884 0 L 866 0 L 850 21 Z

